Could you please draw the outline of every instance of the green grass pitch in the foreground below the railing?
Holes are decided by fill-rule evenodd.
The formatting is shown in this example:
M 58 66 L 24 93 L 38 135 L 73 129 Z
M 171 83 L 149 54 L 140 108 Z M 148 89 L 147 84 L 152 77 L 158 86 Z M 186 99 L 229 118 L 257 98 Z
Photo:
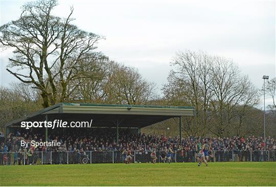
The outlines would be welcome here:
M 275 186 L 276 162 L 1 166 L 1 186 Z

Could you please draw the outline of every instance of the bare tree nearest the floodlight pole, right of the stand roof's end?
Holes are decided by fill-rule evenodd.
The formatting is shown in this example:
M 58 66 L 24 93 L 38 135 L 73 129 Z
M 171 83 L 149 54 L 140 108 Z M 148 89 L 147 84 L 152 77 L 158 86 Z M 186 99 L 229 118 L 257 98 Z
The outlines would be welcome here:
M 212 126 L 215 128 L 211 128 L 211 131 L 218 136 L 229 135 L 237 114 L 235 107 L 256 106 L 259 101 L 258 91 L 247 76 L 240 74 L 232 60 L 223 57 L 214 58 L 213 84 L 215 97 L 212 98 L 212 106 L 218 124 Z

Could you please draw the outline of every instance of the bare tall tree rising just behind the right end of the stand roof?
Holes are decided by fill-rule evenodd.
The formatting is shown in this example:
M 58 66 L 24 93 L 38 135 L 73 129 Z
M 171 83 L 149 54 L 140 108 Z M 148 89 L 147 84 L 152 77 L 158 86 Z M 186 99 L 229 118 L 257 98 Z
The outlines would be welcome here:
M 179 52 L 171 62 L 174 69 L 164 85 L 165 98 L 173 105 L 192 105 L 196 118 L 185 118 L 183 130 L 188 134 L 203 135 L 210 124 L 212 112 L 212 57 L 202 52 Z

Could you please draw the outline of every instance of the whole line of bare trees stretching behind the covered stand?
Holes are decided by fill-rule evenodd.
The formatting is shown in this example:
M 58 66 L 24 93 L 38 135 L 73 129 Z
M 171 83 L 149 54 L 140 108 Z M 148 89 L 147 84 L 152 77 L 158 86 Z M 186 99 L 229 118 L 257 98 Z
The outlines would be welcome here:
M 185 135 L 263 135 L 263 112 L 257 108 L 260 89 L 231 59 L 179 52 L 171 62 L 168 82 L 158 91 L 137 69 L 97 51 L 104 37 L 74 25 L 73 8 L 65 18 L 53 15 L 57 5 L 57 1 L 27 3 L 17 20 L 0 27 L 1 48 L 13 50 L 7 73 L 19 80 L 0 88 L 1 127 L 58 102 L 81 102 L 194 106 L 196 117 L 183 119 Z M 273 99 L 267 135 L 273 137 L 275 87 L 275 78 L 266 84 L 267 96 Z M 177 135 L 177 124 L 168 120 L 143 131 Z

